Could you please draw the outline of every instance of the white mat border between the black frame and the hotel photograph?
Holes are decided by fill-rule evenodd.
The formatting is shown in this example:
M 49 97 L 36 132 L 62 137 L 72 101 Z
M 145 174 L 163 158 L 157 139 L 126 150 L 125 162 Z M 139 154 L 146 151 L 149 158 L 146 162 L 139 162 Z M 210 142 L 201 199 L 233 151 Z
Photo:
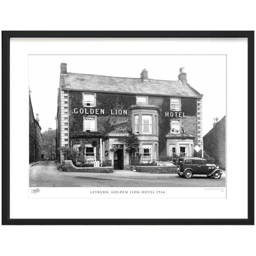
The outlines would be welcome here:
M 226 199 L 216 199 L 220 197 L 220 192 L 217 190 L 215 199 L 211 200 L 199 199 L 205 198 L 208 190 L 202 191 L 201 193 L 204 193 L 202 196 L 197 193 L 193 199 L 190 199 L 190 196 L 186 197 L 185 193 L 182 200 L 175 198 L 162 200 L 162 195 L 159 196 L 160 199 L 145 200 L 139 198 L 123 200 L 120 197 L 115 200 L 86 198 L 75 200 L 69 199 L 69 196 L 57 199 L 59 196 L 56 195 L 58 194 L 56 191 L 60 191 L 59 188 L 51 189 L 54 192 L 50 200 L 28 198 L 28 171 L 25 168 L 28 166 L 29 152 L 28 90 L 26 90 L 28 88 L 28 54 L 61 54 L 63 52 L 65 54 L 101 54 L 103 51 L 106 54 L 175 54 L 178 52 L 179 54 L 227 55 Z M 237 154 L 237 143 L 234 137 L 240 129 L 237 116 L 243 116 L 243 136 L 247 138 L 247 117 L 244 109 L 237 107 L 238 102 L 235 100 L 242 98 L 245 105 L 247 102 L 246 86 L 241 90 L 241 84 L 247 83 L 246 38 L 224 38 L 222 40 L 219 38 L 211 40 L 209 38 L 62 38 L 60 40 L 58 38 L 11 38 L 10 63 L 10 94 L 12 95 L 10 99 L 10 152 L 15 152 L 17 141 L 23 145 L 25 152 L 25 154 L 10 154 L 10 218 L 187 218 L 188 213 L 190 218 L 247 218 L 247 173 L 240 175 L 241 170 L 234 157 Z M 109 65 L 111 64 L 110 61 Z M 47 76 L 47 73 L 44 74 L 42 70 L 41 76 Z M 41 79 L 39 75 L 38 79 Z M 48 104 L 48 100 L 48 97 L 45 97 L 44 104 Z M 23 115 L 17 115 L 16 102 L 19 102 L 19 111 L 23 112 Z M 215 104 L 218 104 L 217 99 Z M 19 133 L 16 132 L 17 123 Z M 20 136 L 20 133 L 23 135 Z M 241 140 L 239 147 L 243 148 L 246 155 L 247 140 Z M 22 171 L 16 168 L 16 162 L 23 167 Z M 237 189 L 238 183 L 240 190 Z M 80 193 L 85 193 L 86 188 L 78 189 Z M 179 191 L 178 188 L 172 190 L 176 193 Z M 65 193 L 68 191 L 69 188 L 64 188 Z M 166 192 L 169 197 L 170 189 L 166 188 Z M 44 195 L 48 197 L 47 190 L 42 189 L 42 196 Z M 86 193 L 85 197 L 88 197 Z M 102 208 L 106 206 L 108 210 L 102 211 Z

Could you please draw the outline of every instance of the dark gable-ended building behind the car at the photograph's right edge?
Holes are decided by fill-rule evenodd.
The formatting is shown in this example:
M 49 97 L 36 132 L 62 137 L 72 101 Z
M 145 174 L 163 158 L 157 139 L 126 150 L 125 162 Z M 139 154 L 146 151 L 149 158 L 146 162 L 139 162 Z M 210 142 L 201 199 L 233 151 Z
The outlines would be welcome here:
M 204 135 L 204 151 L 215 159 L 215 164 L 226 170 L 226 116 L 214 118 L 213 128 Z

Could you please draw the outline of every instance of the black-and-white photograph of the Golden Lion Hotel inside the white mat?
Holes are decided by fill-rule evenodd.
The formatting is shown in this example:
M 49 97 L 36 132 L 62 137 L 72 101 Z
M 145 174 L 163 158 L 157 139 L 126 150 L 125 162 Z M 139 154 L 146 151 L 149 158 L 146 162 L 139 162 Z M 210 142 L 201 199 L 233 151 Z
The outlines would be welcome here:
M 35 54 L 28 66 L 32 192 L 226 187 L 226 55 Z

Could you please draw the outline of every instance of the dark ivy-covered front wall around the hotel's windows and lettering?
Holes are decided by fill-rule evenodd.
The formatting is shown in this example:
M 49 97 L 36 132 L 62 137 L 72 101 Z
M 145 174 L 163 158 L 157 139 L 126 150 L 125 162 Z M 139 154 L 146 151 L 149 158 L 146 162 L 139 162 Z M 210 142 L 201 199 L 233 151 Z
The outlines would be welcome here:
M 69 138 L 70 140 L 76 141 L 75 139 L 84 138 L 87 140 L 89 136 L 100 138 L 100 136 L 106 136 L 109 132 L 115 131 L 115 128 L 127 127 L 127 132 L 132 132 L 131 126 L 131 111 L 130 106 L 136 104 L 136 96 L 134 95 L 118 95 L 118 94 L 96 94 L 96 107 L 87 107 L 88 109 L 104 109 L 104 115 L 97 115 L 97 132 L 85 133 L 83 132 L 83 116 L 85 114 L 74 114 L 74 108 L 85 108 L 82 105 L 82 92 L 80 91 L 69 91 Z M 188 135 L 195 137 L 194 144 L 197 144 L 197 100 L 192 98 L 181 98 L 181 110 L 184 112 L 185 117 L 176 119 L 181 120 L 181 126 Z M 170 120 L 174 119 L 170 116 L 170 97 L 157 97 L 148 96 L 148 104 L 157 106 L 160 111 L 158 114 L 158 140 L 159 140 L 159 156 L 166 155 L 166 135 L 170 134 Z M 127 110 L 126 115 L 111 115 L 112 110 Z M 165 116 L 165 112 L 169 112 L 169 116 Z M 118 124 L 110 127 L 110 122 L 116 122 L 126 120 L 128 123 Z

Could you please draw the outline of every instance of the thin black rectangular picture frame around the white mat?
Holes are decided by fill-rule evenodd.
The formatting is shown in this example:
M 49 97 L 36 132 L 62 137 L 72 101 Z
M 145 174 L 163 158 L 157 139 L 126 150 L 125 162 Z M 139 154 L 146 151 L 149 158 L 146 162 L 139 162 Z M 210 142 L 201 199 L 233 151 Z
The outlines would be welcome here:
M 248 218 L 245 219 L 10 219 L 10 38 L 247 38 Z M 254 224 L 254 31 L 2 31 L 2 224 L 3 225 L 253 225 Z

